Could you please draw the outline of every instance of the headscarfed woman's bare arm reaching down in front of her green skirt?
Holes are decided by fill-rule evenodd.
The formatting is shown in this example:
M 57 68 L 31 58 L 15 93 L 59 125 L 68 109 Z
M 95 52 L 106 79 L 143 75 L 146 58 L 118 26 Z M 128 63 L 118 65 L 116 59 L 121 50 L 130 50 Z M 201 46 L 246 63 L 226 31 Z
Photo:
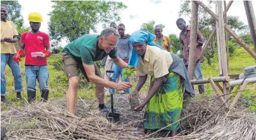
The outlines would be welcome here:
M 156 94 L 157 90 L 160 88 L 162 83 L 163 83 L 163 77 L 156 78 L 152 89 L 149 91 L 149 94 L 147 94 L 144 101 L 141 102 L 140 105 L 135 108 L 135 110 L 137 110 L 137 111 L 143 110 L 144 106 L 147 104 L 147 102 L 149 102 L 149 100 L 153 97 L 153 95 Z

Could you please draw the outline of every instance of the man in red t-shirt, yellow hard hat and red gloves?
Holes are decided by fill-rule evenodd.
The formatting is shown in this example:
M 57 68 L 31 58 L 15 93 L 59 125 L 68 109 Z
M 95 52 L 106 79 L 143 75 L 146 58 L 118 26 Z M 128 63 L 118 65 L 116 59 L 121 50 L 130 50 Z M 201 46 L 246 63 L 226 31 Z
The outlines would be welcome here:
M 36 79 L 41 90 L 41 99 L 47 102 L 49 95 L 49 69 L 46 58 L 50 56 L 49 36 L 39 31 L 41 22 L 43 21 L 40 14 L 30 13 L 29 21 L 32 31 L 25 32 L 21 35 L 20 48 L 13 59 L 19 63 L 21 57 L 26 55 L 25 78 L 29 103 L 36 100 Z

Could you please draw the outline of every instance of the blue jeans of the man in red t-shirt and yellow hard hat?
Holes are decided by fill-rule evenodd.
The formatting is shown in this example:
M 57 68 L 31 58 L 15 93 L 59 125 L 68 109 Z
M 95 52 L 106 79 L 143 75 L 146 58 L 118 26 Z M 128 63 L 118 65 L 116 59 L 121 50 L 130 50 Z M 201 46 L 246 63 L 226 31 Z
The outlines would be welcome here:
M 36 79 L 39 83 L 39 89 L 48 89 L 49 69 L 48 65 L 32 66 L 27 65 L 25 68 L 25 78 L 27 84 L 27 91 L 36 91 Z

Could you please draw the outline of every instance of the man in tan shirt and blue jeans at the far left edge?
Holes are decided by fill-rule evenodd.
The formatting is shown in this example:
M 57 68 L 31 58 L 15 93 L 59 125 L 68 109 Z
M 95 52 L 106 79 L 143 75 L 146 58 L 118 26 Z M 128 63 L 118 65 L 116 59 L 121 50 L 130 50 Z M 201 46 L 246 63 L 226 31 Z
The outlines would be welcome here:
M 20 66 L 13 61 L 13 56 L 16 54 L 14 42 L 17 42 L 19 35 L 12 21 L 7 20 L 8 9 L 5 5 L 1 5 L 1 101 L 9 105 L 10 103 L 5 98 L 6 81 L 4 70 L 5 66 L 12 69 L 14 77 L 14 92 L 17 98 L 22 98 L 20 92 L 23 91 Z

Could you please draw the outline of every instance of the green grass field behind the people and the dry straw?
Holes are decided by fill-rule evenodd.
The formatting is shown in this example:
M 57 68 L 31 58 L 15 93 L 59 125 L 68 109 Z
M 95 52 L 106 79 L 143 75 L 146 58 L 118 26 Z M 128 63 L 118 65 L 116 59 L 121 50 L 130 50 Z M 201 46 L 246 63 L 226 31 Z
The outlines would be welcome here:
M 253 49 L 253 46 L 251 46 Z M 67 86 L 68 86 L 68 79 L 66 75 L 64 74 L 64 71 L 62 71 L 62 56 L 61 54 L 58 55 L 52 55 L 48 59 L 49 63 L 49 89 L 50 89 L 50 94 L 49 98 L 50 100 L 53 100 L 54 98 L 62 98 L 65 97 L 66 91 L 67 91 Z M 24 60 L 20 62 L 21 65 L 21 74 L 22 74 L 22 83 L 24 85 L 24 91 L 22 92 L 22 95 L 24 98 L 27 98 L 26 94 L 26 80 L 24 76 L 24 71 L 25 71 L 25 66 L 24 66 Z M 246 50 L 244 50 L 242 47 L 236 49 L 236 53 L 234 56 L 230 57 L 229 59 L 229 74 L 241 74 L 243 73 L 243 69 L 248 67 L 248 66 L 253 66 L 255 65 L 254 59 L 247 53 Z M 101 72 L 104 71 L 103 68 L 100 68 Z M 25 100 L 16 100 L 16 95 L 14 92 L 14 79 L 12 76 L 12 71 L 11 69 L 6 66 L 5 68 L 5 77 L 6 77 L 6 82 L 7 82 L 7 100 L 11 101 L 13 103 L 13 106 L 21 106 L 24 104 L 26 101 Z M 212 65 L 208 65 L 207 61 L 204 61 L 202 63 L 202 73 L 203 73 L 203 78 L 208 78 L 208 77 L 217 77 L 219 76 L 219 65 L 218 65 L 218 56 L 215 56 L 212 59 Z M 95 85 L 92 83 L 87 83 L 86 79 L 81 76 L 80 78 L 80 85 L 79 85 L 79 90 L 77 92 L 78 97 L 81 98 L 86 98 L 90 99 L 95 97 Z M 135 88 L 137 84 L 137 78 L 132 79 L 133 83 L 133 89 Z M 214 91 L 211 87 L 210 84 L 205 84 L 206 87 L 206 94 L 213 94 Z M 237 86 L 236 86 L 237 87 Z M 251 84 L 247 86 L 247 91 L 244 92 L 248 96 L 248 93 L 251 94 L 250 98 L 248 100 L 252 100 L 252 103 L 250 106 L 256 106 L 256 101 L 253 96 L 256 96 L 256 84 Z M 40 100 L 40 94 L 38 90 L 38 83 L 37 83 L 37 100 Z M 147 79 L 145 85 L 143 88 L 141 88 L 140 92 L 148 92 L 149 89 L 149 78 Z M 197 90 L 197 88 L 195 88 Z M 236 88 L 234 89 L 234 91 Z M 233 95 L 234 96 L 234 95 Z M 247 97 L 246 96 L 246 97 Z M 3 107 L 3 109 L 7 109 L 6 106 Z

